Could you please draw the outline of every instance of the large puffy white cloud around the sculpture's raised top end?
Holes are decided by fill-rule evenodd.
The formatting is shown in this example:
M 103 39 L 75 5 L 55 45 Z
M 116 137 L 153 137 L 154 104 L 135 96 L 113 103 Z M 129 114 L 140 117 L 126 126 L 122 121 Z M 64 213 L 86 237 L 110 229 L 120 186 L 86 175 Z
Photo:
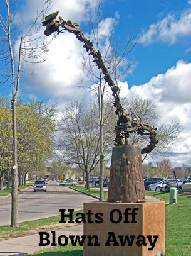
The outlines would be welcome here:
M 63 19 L 71 19 L 81 23 L 89 19 L 87 16 L 89 3 L 90 0 L 71 0 L 70 4 L 67 0 L 54 0 L 53 8 L 49 13 L 59 9 L 59 14 Z M 38 6 L 38 4 L 38 0 L 34 0 L 33 4 L 31 4 L 31 1 L 26 1 L 26 5 L 21 10 L 21 13 L 17 15 L 22 14 L 23 19 L 28 18 L 28 22 L 33 21 L 36 16 L 35 6 Z M 95 6 L 96 1 L 93 1 L 93 8 Z M 112 26 L 118 18 L 118 13 L 116 13 L 114 18 L 106 18 L 100 22 L 100 49 L 103 55 L 104 49 L 109 45 L 106 37 L 109 35 Z M 82 25 L 80 24 L 81 29 L 83 29 Z M 44 30 L 44 27 L 41 27 L 41 29 Z M 90 35 L 86 37 L 90 38 Z M 15 52 L 18 46 L 19 42 L 16 42 L 14 47 Z M 86 54 L 88 53 L 83 48 L 83 43 L 78 41 L 75 35 L 72 33 L 69 34 L 67 31 L 63 34 L 60 33 L 53 39 L 53 42 L 49 46 L 49 51 L 46 52 L 46 62 L 37 64 L 35 67 L 24 62 L 22 63 L 24 70 L 27 70 L 28 73 L 35 68 L 36 76 L 22 75 L 21 78 L 24 79 L 24 82 L 21 86 L 21 93 L 28 95 L 36 94 L 37 96 L 43 95 L 56 99 L 84 98 L 87 92 L 80 90 L 78 85 L 81 80 L 84 82 L 87 81 L 82 70 L 82 56 Z

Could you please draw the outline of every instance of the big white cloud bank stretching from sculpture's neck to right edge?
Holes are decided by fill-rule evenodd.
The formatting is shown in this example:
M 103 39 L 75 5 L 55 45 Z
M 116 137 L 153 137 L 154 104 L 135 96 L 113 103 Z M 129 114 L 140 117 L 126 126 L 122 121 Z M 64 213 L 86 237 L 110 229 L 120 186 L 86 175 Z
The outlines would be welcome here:
M 191 63 L 180 60 L 165 74 L 158 74 L 150 81 L 139 86 L 128 88 L 126 82 L 120 82 L 121 95 L 152 99 L 158 105 L 158 114 L 162 123 L 170 125 L 173 121 L 180 121 L 184 126 L 181 134 L 182 141 L 173 148 L 169 155 L 173 166 L 191 165 Z

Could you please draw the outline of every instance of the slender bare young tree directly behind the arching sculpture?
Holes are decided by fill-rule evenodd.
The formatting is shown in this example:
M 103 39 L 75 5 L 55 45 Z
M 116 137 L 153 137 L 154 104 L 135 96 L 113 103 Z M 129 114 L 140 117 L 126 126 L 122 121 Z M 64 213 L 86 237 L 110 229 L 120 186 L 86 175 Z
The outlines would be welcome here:
M 103 61 L 105 65 L 108 66 L 110 70 L 110 75 L 116 81 L 120 78 L 121 75 L 124 75 L 130 69 L 130 65 L 126 64 L 126 57 L 135 47 L 136 43 L 132 42 L 135 40 L 135 37 L 131 37 L 126 43 L 126 47 L 123 52 L 121 52 L 121 47 L 117 43 L 113 42 L 113 30 L 114 25 L 111 25 L 110 32 L 108 35 L 101 35 L 101 4 L 102 0 L 99 0 L 95 8 L 95 3 L 92 5 L 90 3 L 90 26 L 91 26 L 91 40 L 95 45 L 96 49 L 102 52 Z M 94 7 L 92 7 L 94 6 Z M 96 11 L 95 11 L 96 9 Z M 104 41 L 104 43 L 103 43 Z M 125 65 L 124 65 L 125 64 Z M 105 108 L 105 99 L 108 94 L 108 82 L 105 81 L 105 74 L 103 70 L 98 69 L 95 64 L 95 60 L 89 57 L 83 58 L 83 71 L 90 83 L 90 86 L 81 86 L 90 91 L 94 91 L 96 95 L 96 101 L 98 104 L 98 120 L 100 126 L 100 201 L 104 200 L 103 194 L 103 175 L 104 175 L 104 162 L 105 162 L 105 152 L 104 152 L 104 127 L 106 120 L 110 116 L 113 108 L 108 109 L 108 113 L 104 114 L 103 109 Z M 94 86 L 92 87 L 92 84 Z

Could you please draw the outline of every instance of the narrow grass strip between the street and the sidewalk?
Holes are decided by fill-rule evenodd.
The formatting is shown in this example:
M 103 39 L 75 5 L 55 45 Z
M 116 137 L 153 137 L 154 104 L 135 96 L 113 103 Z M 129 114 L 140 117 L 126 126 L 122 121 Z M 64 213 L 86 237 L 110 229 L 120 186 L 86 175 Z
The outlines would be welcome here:
M 73 213 L 73 217 L 76 218 L 76 213 L 80 213 L 83 211 L 75 211 Z M 67 220 L 67 218 L 66 218 Z M 69 226 L 68 224 L 59 224 L 60 215 L 42 218 L 33 221 L 24 221 L 19 223 L 19 228 L 11 228 L 9 225 L 0 227 L 0 240 L 13 238 L 13 237 L 21 237 L 24 235 L 31 235 L 33 233 L 38 233 L 39 231 L 49 231 L 54 228 L 65 228 Z M 71 225 L 70 225 L 71 226 Z

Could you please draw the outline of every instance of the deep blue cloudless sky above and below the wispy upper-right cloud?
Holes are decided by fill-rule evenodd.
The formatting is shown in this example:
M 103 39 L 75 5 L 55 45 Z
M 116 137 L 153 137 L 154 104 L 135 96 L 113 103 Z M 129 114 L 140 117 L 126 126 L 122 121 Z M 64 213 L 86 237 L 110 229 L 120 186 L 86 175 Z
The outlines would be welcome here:
M 105 1 L 104 16 L 115 16 L 118 11 L 120 16 L 118 24 L 115 26 L 116 38 L 125 43 L 126 35 L 143 35 L 147 32 L 150 25 L 155 25 L 167 16 L 172 15 L 180 20 L 180 16 L 190 9 L 188 1 Z M 110 6 L 110 8 L 106 8 Z M 170 23 L 168 23 L 170 26 Z M 157 36 L 156 36 L 157 37 Z M 156 38 L 157 39 L 157 38 Z M 190 61 L 191 52 L 186 52 L 190 48 L 190 36 L 177 38 L 175 43 L 169 41 L 155 40 L 153 42 L 138 43 L 133 50 L 133 57 L 137 62 L 136 69 L 132 75 L 128 75 L 128 84 L 143 84 L 148 82 L 154 75 L 164 73 L 169 67 L 172 67 L 180 59 Z

